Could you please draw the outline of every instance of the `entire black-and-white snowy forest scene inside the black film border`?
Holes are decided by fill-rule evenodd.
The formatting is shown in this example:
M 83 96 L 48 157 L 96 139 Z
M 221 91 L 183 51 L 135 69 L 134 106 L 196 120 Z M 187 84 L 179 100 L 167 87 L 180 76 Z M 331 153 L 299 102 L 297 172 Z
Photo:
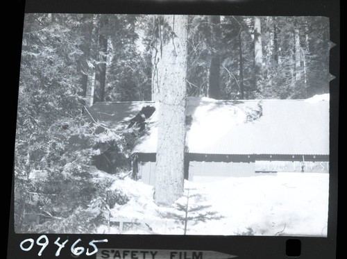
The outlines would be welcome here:
M 330 22 L 26 13 L 15 233 L 327 237 Z

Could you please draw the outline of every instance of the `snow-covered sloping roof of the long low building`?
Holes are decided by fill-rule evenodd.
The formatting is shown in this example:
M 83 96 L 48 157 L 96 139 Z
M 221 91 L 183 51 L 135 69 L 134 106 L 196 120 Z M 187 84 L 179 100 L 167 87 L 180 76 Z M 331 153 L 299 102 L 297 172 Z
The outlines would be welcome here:
M 91 113 L 103 122 L 118 126 L 135 117 L 143 106 L 154 102 L 96 103 Z M 262 106 L 262 115 L 249 119 Z M 186 115 L 192 116 L 187 127 L 189 153 L 204 154 L 329 154 L 329 95 L 306 100 L 221 101 L 188 98 Z M 139 139 L 134 153 L 155 153 L 157 115 L 153 113 L 148 133 Z

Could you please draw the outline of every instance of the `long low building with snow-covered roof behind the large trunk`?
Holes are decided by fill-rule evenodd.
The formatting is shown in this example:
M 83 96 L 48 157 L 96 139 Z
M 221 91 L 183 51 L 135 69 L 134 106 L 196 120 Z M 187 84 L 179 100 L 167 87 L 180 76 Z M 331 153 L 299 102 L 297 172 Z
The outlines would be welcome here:
M 95 103 L 93 117 L 127 125 L 145 102 Z M 277 172 L 329 172 L 329 99 L 220 101 L 189 98 L 185 178 L 210 181 Z M 156 112 L 133 149 L 133 169 L 154 184 Z

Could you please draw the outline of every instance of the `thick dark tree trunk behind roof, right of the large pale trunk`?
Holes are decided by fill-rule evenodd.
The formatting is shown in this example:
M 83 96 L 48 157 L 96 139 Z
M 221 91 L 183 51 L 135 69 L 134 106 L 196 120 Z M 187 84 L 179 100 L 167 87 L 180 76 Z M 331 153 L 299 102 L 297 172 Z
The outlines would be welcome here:
M 210 73 L 208 78 L 208 97 L 219 99 L 219 79 L 221 74 L 221 58 L 219 56 L 219 40 L 221 40 L 221 17 L 219 15 L 210 15 L 208 22 L 211 28 L 212 53 L 210 61 Z

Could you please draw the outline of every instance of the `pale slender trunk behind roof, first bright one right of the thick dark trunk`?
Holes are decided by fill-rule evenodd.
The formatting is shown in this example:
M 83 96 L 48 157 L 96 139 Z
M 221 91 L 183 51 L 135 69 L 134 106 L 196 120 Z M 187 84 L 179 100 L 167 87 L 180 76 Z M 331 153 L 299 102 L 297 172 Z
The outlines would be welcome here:
M 254 87 L 260 91 L 262 81 L 262 24 L 260 17 L 254 18 Z

